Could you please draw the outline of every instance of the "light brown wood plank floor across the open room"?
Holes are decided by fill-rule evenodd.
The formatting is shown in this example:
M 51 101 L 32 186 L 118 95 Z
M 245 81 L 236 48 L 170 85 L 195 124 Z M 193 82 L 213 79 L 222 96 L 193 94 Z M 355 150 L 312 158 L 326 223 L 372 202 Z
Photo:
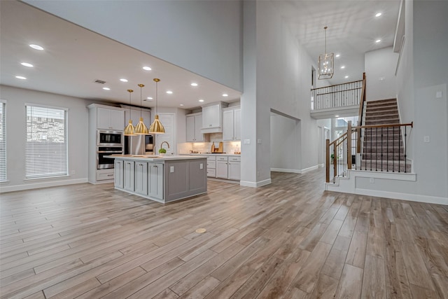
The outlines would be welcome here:
M 323 192 L 322 169 L 272 181 L 165 206 L 2 194 L 1 298 L 448 298 L 447 206 Z

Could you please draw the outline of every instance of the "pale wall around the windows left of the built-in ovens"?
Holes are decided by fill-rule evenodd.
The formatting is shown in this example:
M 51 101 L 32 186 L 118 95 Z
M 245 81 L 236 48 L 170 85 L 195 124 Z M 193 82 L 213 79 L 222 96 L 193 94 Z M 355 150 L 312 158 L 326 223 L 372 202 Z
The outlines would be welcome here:
M 83 99 L 47 92 L 0 86 L 1 99 L 6 99 L 6 165 L 8 182 L 0 183 L 1 191 L 58 186 L 87 182 L 87 130 L 90 104 Z M 69 176 L 54 179 L 25 179 L 25 103 L 68 108 Z M 74 174 L 72 174 L 74 172 Z

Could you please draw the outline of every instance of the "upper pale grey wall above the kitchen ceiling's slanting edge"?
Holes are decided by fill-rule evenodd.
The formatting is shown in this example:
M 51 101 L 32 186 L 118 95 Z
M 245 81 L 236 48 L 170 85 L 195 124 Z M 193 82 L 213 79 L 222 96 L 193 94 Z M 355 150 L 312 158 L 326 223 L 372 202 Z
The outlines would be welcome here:
M 30 1 L 82 27 L 242 90 L 240 1 Z

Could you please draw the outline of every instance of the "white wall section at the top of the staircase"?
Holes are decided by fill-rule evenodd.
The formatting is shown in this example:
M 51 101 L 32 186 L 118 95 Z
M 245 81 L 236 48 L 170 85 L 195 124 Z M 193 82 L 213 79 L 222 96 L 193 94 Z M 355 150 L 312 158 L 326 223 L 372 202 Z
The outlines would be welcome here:
M 395 67 L 398 54 L 393 48 L 382 48 L 365 53 L 365 76 L 367 78 L 367 101 L 395 99 Z

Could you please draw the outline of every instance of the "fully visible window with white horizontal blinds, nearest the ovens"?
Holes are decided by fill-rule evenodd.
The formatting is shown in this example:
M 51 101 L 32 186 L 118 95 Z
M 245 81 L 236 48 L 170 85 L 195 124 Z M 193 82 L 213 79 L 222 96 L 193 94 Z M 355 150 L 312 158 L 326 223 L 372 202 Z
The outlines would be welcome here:
M 38 179 L 66 176 L 66 109 L 27 107 L 25 177 Z

